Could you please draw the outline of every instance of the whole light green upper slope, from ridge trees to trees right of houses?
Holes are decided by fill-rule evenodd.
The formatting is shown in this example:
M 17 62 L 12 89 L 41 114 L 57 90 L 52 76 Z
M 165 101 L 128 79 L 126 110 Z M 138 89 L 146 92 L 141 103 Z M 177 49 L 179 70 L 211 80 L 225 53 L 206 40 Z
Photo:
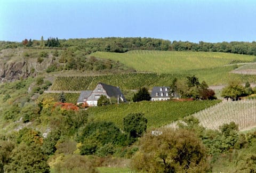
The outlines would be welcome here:
M 251 55 L 177 51 L 95 52 L 91 55 L 119 61 L 137 71 L 196 75 L 209 85 L 227 84 L 232 79 L 256 83 L 254 75 L 230 73 L 243 63 L 254 62 L 255 56 Z

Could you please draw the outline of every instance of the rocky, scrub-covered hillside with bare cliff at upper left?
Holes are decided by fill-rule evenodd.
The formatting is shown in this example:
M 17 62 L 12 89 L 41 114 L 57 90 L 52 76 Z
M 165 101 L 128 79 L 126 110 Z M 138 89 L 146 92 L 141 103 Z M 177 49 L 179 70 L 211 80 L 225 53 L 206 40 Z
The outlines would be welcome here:
M 73 71 L 72 71 L 73 70 Z M 125 65 L 111 60 L 90 58 L 76 48 L 19 47 L 0 51 L 0 82 L 63 74 L 99 74 L 133 72 Z

